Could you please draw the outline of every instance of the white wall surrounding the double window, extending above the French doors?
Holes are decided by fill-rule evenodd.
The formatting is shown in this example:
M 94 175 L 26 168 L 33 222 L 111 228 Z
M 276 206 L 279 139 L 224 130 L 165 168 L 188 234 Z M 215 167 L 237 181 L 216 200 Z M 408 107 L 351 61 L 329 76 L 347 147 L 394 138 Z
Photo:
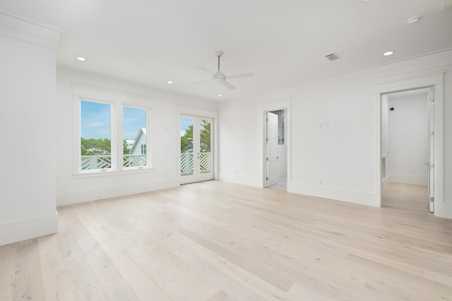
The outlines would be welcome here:
M 150 107 L 151 170 L 74 175 L 73 86 L 81 93 L 97 91 L 102 97 L 137 107 Z M 86 92 L 83 92 L 85 90 Z M 93 92 L 95 93 L 95 92 Z M 106 99 L 108 100 L 108 99 Z M 179 186 L 179 107 L 216 112 L 216 102 L 196 100 L 114 78 L 57 70 L 57 206 Z

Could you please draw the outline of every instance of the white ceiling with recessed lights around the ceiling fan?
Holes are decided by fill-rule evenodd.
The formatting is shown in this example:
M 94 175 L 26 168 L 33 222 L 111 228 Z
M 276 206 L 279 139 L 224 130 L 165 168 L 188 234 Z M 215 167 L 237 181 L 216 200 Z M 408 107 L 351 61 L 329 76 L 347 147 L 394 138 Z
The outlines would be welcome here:
M 59 66 L 210 100 L 452 48 L 452 0 L 0 0 L 0 10 L 61 30 Z M 209 78 L 196 66 L 216 70 L 218 50 L 223 73 L 254 78 L 231 79 L 232 91 L 189 84 Z

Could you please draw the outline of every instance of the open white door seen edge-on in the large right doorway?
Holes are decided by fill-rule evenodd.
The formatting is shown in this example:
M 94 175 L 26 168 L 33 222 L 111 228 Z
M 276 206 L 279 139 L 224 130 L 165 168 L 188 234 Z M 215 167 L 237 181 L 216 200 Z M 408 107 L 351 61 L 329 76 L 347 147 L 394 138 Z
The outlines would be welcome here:
M 427 164 L 428 194 L 429 194 L 429 210 L 434 212 L 434 88 L 429 91 L 429 160 Z

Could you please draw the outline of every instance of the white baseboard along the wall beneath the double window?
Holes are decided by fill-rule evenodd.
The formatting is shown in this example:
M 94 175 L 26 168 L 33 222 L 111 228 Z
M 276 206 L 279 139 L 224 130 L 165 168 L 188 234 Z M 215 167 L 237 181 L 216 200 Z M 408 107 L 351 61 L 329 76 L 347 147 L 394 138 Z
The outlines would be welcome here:
M 150 182 L 115 185 L 111 187 L 95 187 L 78 191 L 57 192 L 57 207 L 174 187 L 179 187 L 177 179 L 159 179 Z

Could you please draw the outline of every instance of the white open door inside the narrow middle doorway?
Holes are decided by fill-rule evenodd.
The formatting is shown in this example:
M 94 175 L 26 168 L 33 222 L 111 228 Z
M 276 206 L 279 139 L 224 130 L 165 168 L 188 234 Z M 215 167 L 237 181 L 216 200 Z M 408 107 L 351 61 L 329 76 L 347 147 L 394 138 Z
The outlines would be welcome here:
M 278 115 L 267 112 L 267 186 L 278 183 Z

